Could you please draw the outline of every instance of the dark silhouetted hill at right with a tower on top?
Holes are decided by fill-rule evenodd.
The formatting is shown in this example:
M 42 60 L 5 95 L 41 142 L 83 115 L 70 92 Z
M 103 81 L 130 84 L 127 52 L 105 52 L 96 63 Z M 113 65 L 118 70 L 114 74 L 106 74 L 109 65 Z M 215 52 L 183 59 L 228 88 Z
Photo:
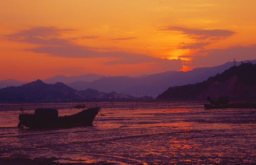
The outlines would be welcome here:
M 243 63 L 196 84 L 170 87 L 156 99 L 256 98 L 256 64 Z

